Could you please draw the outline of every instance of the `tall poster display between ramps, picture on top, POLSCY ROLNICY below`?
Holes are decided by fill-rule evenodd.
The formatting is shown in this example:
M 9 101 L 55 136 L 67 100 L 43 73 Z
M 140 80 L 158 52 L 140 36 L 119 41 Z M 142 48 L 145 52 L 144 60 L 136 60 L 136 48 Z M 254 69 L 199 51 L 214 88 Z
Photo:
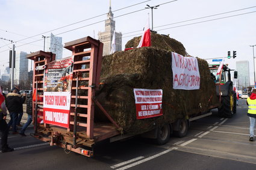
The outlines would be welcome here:
M 57 59 L 45 66 L 43 78 L 43 122 L 68 128 L 73 56 Z

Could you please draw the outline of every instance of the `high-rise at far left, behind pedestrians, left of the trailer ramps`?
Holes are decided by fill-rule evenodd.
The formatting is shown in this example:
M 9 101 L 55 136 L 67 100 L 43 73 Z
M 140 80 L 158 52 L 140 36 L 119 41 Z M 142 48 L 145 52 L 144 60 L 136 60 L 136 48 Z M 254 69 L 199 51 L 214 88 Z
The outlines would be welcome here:
M 28 80 L 28 59 L 26 52 L 16 52 L 14 68 L 14 84 Z

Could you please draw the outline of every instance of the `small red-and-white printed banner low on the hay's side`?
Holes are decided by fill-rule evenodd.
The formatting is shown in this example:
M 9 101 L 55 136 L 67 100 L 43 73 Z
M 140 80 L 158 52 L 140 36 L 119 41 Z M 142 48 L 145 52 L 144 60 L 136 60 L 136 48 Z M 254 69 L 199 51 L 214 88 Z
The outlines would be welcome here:
M 152 118 L 163 115 L 163 90 L 134 88 L 137 119 Z

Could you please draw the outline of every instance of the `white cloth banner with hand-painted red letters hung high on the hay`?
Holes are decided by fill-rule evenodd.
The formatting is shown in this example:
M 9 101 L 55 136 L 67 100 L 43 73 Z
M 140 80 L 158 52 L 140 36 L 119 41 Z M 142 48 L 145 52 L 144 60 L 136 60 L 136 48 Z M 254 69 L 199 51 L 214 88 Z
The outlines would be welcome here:
M 198 90 L 200 88 L 200 73 L 198 59 L 184 57 L 172 52 L 173 89 Z

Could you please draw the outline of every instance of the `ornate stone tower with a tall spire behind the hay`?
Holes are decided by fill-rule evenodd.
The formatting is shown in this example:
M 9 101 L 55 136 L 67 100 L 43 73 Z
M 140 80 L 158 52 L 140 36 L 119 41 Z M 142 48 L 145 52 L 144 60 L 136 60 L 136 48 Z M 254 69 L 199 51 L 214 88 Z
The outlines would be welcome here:
M 98 33 L 99 41 L 101 41 L 103 45 L 103 55 L 110 54 L 111 51 L 111 43 L 114 35 L 114 31 L 116 29 L 116 22 L 113 20 L 114 14 L 110 10 L 107 13 L 107 19 L 105 20 L 105 31 Z M 122 50 L 122 33 L 116 32 L 116 51 Z

